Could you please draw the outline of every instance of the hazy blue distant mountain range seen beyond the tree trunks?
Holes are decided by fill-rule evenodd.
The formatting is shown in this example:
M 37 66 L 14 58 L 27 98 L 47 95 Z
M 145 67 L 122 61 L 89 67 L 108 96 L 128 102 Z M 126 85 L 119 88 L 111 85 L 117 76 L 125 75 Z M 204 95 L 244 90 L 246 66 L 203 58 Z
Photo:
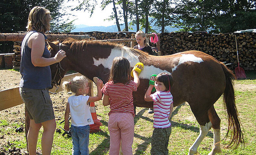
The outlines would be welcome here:
M 151 24 L 151 26 L 154 29 L 157 29 L 154 26 L 154 23 Z M 121 31 L 125 28 L 124 24 L 120 26 Z M 129 29 L 130 32 L 136 32 L 136 25 L 132 26 L 133 29 Z M 158 28 L 159 29 L 159 28 Z M 173 32 L 179 30 L 178 28 L 172 28 L 169 26 L 166 26 L 165 29 L 167 32 Z M 75 29 L 73 29 L 71 32 L 92 32 L 92 31 L 100 31 L 100 32 L 117 32 L 117 26 L 112 25 L 112 26 L 87 26 L 87 25 L 77 25 Z M 145 29 L 142 31 L 145 32 Z M 161 30 L 157 30 L 157 33 L 161 32 Z

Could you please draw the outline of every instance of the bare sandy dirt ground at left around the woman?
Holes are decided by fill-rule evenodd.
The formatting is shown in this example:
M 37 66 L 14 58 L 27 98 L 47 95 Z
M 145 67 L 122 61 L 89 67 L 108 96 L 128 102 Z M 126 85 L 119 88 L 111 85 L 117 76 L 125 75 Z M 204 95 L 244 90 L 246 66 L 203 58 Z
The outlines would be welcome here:
M 19 87 L 20 78 L 21 78 L 21 75 L 17 71 L 0 70 L 0 79 L 1 79 L 0 90 Z M 64 91 L 58 92 L 57 95 L 51 95 L 56 120 L 64 120 L 65 106 L 69 96 L 70 95 L 68 95 Z M 1 154 L 1 151 L 4 149 L 4 147 L 12 146 L 11 145 L 12 141 L 24 139 L 25 137 L 25 105 L 21 104 L 21 105 L 0 111 L 0 119 L 7 120 L 9 124 L 13 124 L 11 125 L 12 127 L 3 128 L 3 130 L 5 131 L 0 130 L 0 154 Z M 23 132 L 21 133 L 14 132 L 16 134 L 13 134 L 13 132 L 8 132 L 11 130 L 15 131 L 16 128 L 19 126 L 24 128 Z M 3 133 L 7 133 L 7 134 L 3 134 Z M 6 150 L 6 151 L 7 152 L 9 151 L 6 154 L 11 154 L 10 151 L 19 152 L 17 148 L 15 150 Z M 21 149 L 20 152 L 21 154 L 25 154 L 26 150 Z

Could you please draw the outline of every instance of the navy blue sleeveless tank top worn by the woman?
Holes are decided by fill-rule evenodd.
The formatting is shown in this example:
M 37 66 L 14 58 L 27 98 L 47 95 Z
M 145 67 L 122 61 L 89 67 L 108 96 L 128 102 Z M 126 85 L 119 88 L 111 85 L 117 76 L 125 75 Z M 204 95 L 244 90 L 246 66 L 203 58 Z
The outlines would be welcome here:
M 21 44 L 21 62 L 19 72 L 21 74 L 21 80 L 19 87 L 30 89 L 48 89 L 51 88 L 51 69 L 50 66 L 35 67 L 31 62 L 31 48 L 28 47 L 28 40 L 31 34 L 37 31 L 30 31 L 23 39 Z M 44 34 L 43 34 L 44 35 Z M 47 37 L 44 35 L 44 38 Z M 50 58 L 51 53 L 46 47 L 42 57 Z

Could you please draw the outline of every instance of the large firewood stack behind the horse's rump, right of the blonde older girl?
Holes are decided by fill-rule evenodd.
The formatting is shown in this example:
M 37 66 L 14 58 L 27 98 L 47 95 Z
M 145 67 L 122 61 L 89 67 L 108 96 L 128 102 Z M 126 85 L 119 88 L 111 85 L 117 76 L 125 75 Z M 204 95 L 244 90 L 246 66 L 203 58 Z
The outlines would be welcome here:
M 199 34 L 189 32 L 161 33 L 160 47 L 162 55 L 198 50 L 215 57 L 221 62 L 231 63 L 228 67 L 237 67 L 237 46 L 239 64 L 245 70 L 256 70 L 256 33 Z

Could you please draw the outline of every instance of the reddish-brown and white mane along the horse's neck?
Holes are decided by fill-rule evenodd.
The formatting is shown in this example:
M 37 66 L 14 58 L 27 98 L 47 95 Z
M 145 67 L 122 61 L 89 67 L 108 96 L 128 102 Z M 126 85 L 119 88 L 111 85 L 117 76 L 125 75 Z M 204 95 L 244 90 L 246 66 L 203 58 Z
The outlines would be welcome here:
M 57 42 L 57 41 L 56 41 Z M 56 44 L 56 43 L 55 43 Z M 122 50 L 122 55 L 127 54 L 130 57 L 136 57 L 136 56 L 142 56 L 142 57 L 149 57 L 149 55 L 143 51 L 133 49 L 130 47 L 126 47 L 122 44 L 116 44 L 116 43 L 111 43 L 111 42 L 103 42 L 103 41 L 88 41 L 86 39 L 84 40 L 76 40 L 74 38 L 67 38 L 65 39 L 62 44 L 69 44 L 70 45 L 70 50 L 75 51 L 77 54 L 82 52 L 83 48 L 87 47 L 109 47 L 109 48 L 120 48 Z

